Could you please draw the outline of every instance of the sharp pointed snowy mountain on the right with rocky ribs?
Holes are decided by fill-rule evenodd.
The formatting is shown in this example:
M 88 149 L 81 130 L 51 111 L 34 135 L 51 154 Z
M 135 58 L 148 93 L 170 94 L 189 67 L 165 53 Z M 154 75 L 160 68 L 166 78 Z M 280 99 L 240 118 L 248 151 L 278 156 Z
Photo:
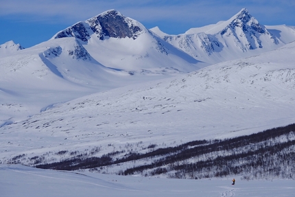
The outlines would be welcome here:
M 167 35 L 151 29 L 168 43 L 204 62 L 217 63 L 277 49 L 295 40 L 295 27 L 261 25 L 246 8 L 228 19 L 185 34 Z

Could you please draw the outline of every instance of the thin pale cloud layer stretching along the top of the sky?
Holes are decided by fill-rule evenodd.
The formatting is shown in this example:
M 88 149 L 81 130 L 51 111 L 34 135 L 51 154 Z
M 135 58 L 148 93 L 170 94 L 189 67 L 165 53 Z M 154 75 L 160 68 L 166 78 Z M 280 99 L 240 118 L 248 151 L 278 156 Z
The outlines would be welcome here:
M 293 0 L 2 0 L 0 16 L 27 21 L 74 23 L 91 18 L 106 10 L 115 9 L 142 23 L 169 21 L 170 23 L 199 23 L 206 25 L 229 19 L 241 8 L 248 8 L 254 16 L 268 17 L 287 14 L 294 8 Z M 288 12 L 288 13 L 289 13 Z M 257 14 L 257 15 L 256 15 Z M 285 15 L 284 15 L 285 16 Z M 294 16 L 294 14 L 292 15 Z

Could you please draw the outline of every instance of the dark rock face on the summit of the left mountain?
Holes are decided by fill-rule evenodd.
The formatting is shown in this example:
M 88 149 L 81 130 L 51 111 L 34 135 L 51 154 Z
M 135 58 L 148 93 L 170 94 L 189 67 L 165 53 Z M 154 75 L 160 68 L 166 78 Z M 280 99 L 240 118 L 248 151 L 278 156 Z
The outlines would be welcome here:
M 100 40 L 104 40 L 106 36 L 110 38 L 128 37 L 136 39 L 141 34 L 141 31 L 141 27 L 134 24 L 131 19 L 126 18 L 116 10 L 109 10 L 85 22 L 68 27 L 66 30 L 59 32 L 55 38 L 75 37 L 85 43 L 92 34 L 97 34 L 97 38 Z

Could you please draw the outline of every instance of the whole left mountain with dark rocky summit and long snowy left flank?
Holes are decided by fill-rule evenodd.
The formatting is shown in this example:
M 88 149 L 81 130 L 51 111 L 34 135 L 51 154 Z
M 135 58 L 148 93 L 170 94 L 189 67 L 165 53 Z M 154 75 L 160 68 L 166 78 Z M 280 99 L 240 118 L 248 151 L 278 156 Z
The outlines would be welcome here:
M 76 23 L 34 47 L 17 51 L 21 47 L 8 42 L 1 49 L 0 126 L 82 95 L 208 65 L 115 10 Z

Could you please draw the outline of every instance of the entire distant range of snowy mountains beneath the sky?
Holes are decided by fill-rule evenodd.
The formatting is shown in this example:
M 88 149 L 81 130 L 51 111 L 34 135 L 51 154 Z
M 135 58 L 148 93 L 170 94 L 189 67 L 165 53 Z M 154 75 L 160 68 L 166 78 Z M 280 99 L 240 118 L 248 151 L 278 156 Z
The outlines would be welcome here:
M 295 27 L 261 25 L 246 9 L 228 21 L 175 36 L 108 10 L 28 49 L 13 41 L 0 45 L 0 98 L 3 104 L 27 106 L 21 113 L 32 115 L 88 93 L 196 71 L 292 40 Z M 34 106 L 32 95 L 38 99 Z M 9 111 L 0 115 L 2 122 L 18 116 Z

